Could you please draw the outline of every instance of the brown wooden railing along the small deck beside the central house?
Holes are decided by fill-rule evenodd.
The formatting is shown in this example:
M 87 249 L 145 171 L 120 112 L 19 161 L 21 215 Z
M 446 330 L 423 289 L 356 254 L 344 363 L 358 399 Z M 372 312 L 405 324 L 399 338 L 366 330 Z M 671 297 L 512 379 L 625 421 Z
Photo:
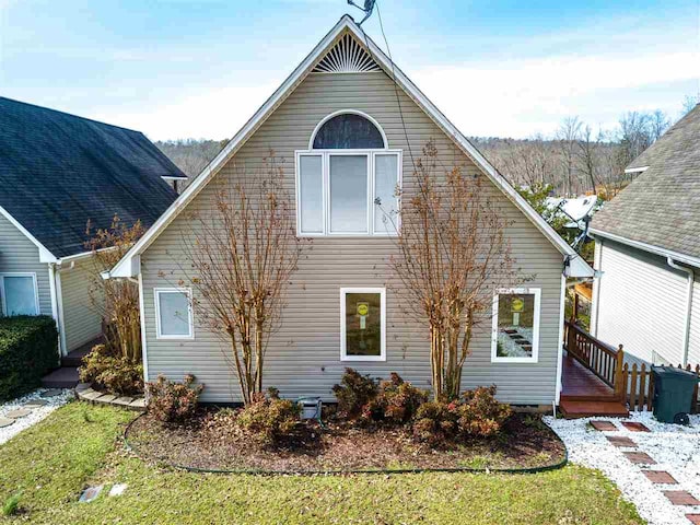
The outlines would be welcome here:
M 586 369 L 597 375 L 606 385 L 615 389 L 616 394 L 622 393 L 620 374 L 622 370 L 623 352 L 599 341 L 579 325 L 565 322 L 567 352 Z

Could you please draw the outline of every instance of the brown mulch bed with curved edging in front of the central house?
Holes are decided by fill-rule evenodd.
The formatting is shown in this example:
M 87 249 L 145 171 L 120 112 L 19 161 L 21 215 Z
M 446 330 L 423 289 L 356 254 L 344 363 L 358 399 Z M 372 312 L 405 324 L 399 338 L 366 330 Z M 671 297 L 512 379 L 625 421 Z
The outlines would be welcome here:
M 212 470 L 312 472 L 405 469 L 511 469 L 547 467 L 565 457 L 565 447 L 538 418 L 515 415 L 489 440 L 434 448 L 418 443 L 410 429 L 357 428 L 343 421 L 300 422 L 285 443 L 256 444 L 244 435 L 205 424 L 214 408 L 186 425 L 163 425 L 145 415 L 128 431 L 128 442 L 144 459 Z

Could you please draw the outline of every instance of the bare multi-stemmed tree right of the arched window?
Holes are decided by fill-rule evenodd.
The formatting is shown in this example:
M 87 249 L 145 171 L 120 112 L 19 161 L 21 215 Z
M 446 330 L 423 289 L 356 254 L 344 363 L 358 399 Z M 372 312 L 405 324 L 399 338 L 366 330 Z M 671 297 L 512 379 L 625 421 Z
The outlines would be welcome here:
M 398 253 L 389 262 L 406 312 L 428 322 L 436 399 L 459 395 L 475 328 L 490 319 L 494 291 L 517 277 L 506 222 L 481 178 L 458 166 L 439 172 L 429 142 L 416 162 L 417 188 L 402 196 Z

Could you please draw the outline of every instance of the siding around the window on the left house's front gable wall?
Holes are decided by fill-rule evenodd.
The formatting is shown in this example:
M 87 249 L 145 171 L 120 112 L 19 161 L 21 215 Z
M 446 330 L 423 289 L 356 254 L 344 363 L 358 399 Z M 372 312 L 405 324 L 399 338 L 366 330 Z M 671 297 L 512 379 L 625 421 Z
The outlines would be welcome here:
M 48 265 L 39 261 L 39 248 L 4 215 L 0 215 L 0 272 L 5 271 L 36 273 L 39 312 L 52 315 Z

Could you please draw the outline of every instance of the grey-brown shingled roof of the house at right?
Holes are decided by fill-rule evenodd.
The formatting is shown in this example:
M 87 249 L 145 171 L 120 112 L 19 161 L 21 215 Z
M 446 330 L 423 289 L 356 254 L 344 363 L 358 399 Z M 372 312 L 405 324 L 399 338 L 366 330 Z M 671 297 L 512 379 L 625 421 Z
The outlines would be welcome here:
M 630 166 L 649 167 L 594 215 L 591 232 L 700 267 L 700 105 Z

